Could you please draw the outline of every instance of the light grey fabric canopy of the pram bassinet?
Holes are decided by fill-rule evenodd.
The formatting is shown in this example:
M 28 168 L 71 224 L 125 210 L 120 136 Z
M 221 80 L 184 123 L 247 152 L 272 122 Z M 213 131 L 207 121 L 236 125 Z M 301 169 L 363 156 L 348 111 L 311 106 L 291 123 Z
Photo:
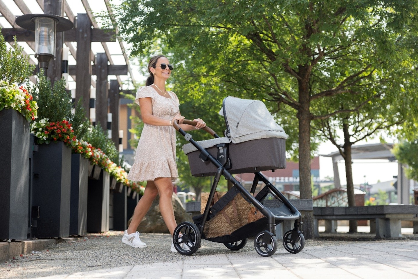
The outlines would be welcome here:
M 227 96 L 219 114 L 224 116 L 226 136 L 232 143 L 268 137 L 288 138 L 262 101 Z

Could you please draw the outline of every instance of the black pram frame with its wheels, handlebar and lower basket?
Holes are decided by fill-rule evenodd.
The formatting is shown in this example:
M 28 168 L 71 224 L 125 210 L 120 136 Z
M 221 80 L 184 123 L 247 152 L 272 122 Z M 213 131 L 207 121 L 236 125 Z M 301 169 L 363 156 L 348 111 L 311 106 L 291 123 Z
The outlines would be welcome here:
M 225 114 L 225 105 L 223 105 L 223 109 Z M 227 122 L 226 116 L 225 121 Z M 183 123 L 190 125 L 196 124 L 196 122 L 187 119 L 185 119 Z M 190 134 L 181 129 L 177 121 L 173 123 L 173 126 L 196 149 L 194 151 L 194 155 L 190 156 L 190 154 L 188 154 L 189 162 L 191 161 L 191 157 L 194 156 L 198 157 L 201 162 L 205 162 L 206 165 L 207 163 L 210 163 L 215 166 L 215 168 L 212 167 L 208 173 L 200 173 L 201 171 L 192 170 L 192 174 L 195 176 L 214 175 L 214 180 L 203 214 L 201 214 L 201 216 L 195 217 L 194 223 L 182 222 L 178 224 L 173 233 L 173 243 L 176 250 L 180 254 L 194 254 L 201 246 L 201 239 L 224 243 L 228 249 L 239 250 L 245 246 L 247 243 L 247 238 L 255 236 L 254 247 L 257 253 L 261 256 L 272 256 L 278 248 L 275 226 L 285 220 L 295 220 L 295 222 L 294 228 L 284 233 L 283 246 L 288 252 L 293 254 L 302 251 L 305 239 L 301 228 L 301 213 L 261 173 L 263 170 L 285 168 L 285 162 L 284 165 L 283 162 L 279 160 L 278 162 L 274 162 L 273 166 L 270 163 L 261 167 L 258 165 L 254 166 L 254 180 L 251 190 L 248 192 L 232 175 L 235 173 L 243 173 L 240 172 L 242 168 L 235 170 L 234 167 L 232 167 L 234 163 L 232 162 L 231 165 L 231 161 L 229 160 L 228 149 L 229 145 L 233 145 L 233 143 L 218 144 L 214 148 L 205 149 L 199 144 L 199 142 L 194 141 Z M 214 132 L 209 127 L 205 127 L 203 129 L 204 131 L 211 134 L 215 139 L 220 138 L 216 132 Z M 227 123 L 226 134 L 228 133 L 229 130 Z M 196 160 L 194 162 L 196 162 Z M 215 172 L 213 172 L 213 170 L 215 170 Z M 247 168 L 245 168 L 245 170 L 247 170 Z M 215 195 L 217 194 L 216 189 L 221 176 L 229 180 L 233 187 L 224 196 L 219 198 L 219 201 L 213 203 Z M 259 182 L 264 183 L 265 186 L 256 196 L 254 196 L 256 187 Z M 237 230 L 232 233 L 227 233 L 226 235 L 221 234 L 220 236 L 210 236 L 210 233 L 208 233 L 206 230 L 208 226 L 205 227 L 205 224 L 208 221 L 210 222 L 216 220 L 211 220 L 211 218 L 217 216 L 217 214 L 221 214 L 219 212 L 222 212 L 222 209 L 226 204 L 234 202 L 233 199 L 235 197 L 240 199 L 240 201 L 243 201 L 243 203 L 241 202 L 240 204 L 248 204 L 252 206 L 253 212 L 255 211 L 255 214 L 257 214 L 258 211 L 262 214 L 262 217 L 258 217 L 255 221 L 249 221 L 249 223 L 246 223 L 244 226 L 237 228 Z M 235 203 L 237 202 L 235 201 Z M 223 214 L 225 215 L 225 213 Z M 260 216 L 260 214 L 258 216 Z

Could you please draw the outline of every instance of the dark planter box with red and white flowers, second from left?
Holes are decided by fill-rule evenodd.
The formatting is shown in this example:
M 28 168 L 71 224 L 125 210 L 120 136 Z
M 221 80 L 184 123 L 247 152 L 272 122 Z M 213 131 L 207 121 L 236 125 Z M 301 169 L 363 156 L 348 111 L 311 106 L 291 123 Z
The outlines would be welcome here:
M 33 154 L 32 205 L 39 218 L 32 236 L 66 237 L 70 228 L 71 149 L 64 142 L 38 146 Z

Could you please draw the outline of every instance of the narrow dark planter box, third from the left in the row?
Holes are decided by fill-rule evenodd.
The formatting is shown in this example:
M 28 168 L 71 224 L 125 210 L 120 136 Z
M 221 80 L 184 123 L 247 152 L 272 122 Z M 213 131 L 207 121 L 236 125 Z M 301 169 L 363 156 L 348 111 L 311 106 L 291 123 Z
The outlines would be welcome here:
M 89 160 L 71 154 L 70 235 L 87 233 L 87 185 Z

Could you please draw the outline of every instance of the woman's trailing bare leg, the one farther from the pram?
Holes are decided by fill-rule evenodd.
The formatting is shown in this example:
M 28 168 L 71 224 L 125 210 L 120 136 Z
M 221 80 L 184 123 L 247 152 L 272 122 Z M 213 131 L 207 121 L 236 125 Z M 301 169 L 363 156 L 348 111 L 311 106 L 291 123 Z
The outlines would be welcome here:
M 144 190 L 144 195 L 140 198 L 135 207 L 132 220 L 127 228 L 127 233 L 135 233 L 145 214 L 150 210 L 155 197 L 158 195 L 158 189 L 155 187 L 154 181 L 147 181 L 147 186 Z

